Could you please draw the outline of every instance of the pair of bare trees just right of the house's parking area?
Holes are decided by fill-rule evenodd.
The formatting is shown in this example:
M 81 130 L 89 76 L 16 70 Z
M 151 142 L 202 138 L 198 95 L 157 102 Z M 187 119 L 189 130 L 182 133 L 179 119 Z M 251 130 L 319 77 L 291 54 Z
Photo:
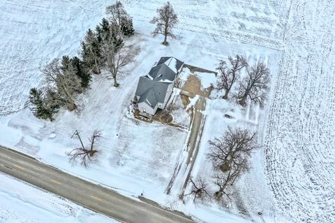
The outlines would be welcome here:
M 246 70 L 246 77 L 241 79 L 241 70 Z M 224 91 L 223 99 L 227 100 L 234 84 L 237 82 L 237 91 L 233 97 L 240 105 L 245 106 L 246 100 L 250 99 L 259 105 L 263 105 L 267 97 L 269 84 L 269 68 L 265 63 L 258 62 L 248 66 L 243 56 L 228 57 L 228 63 L 221 61 L 218 66 L 218 83 L 216 89 Z

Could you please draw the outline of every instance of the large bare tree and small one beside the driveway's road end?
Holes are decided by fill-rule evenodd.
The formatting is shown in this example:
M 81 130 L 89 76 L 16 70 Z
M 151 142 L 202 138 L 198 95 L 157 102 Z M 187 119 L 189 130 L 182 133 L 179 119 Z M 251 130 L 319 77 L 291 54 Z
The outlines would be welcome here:
M 209 146 L 207 157 L 211 160 L 215 172 L 212 183 L 217 186 L 213 195 L 217 200 L 223 195 L 230 197 L 232 185 L 241 174 L 248 171 L 248 158 L 258 148 L 256 133 L 241 128 L 228 128 L 221 137 L 209 141 Z M 194 181 L 191 178 L 190 183 L 191 192 L 185 196 L 193 195 L 193 201 L 211 197 L 206 180 L 199 178 Z

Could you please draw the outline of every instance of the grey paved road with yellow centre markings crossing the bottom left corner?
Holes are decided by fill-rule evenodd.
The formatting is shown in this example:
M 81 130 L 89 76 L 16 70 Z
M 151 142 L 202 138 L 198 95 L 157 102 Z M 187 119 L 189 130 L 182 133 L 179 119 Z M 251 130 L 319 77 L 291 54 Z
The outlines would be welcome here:
M 82 180 L 0 146 L 0 171 L 121 222 L 191 223 L 190 218 Z

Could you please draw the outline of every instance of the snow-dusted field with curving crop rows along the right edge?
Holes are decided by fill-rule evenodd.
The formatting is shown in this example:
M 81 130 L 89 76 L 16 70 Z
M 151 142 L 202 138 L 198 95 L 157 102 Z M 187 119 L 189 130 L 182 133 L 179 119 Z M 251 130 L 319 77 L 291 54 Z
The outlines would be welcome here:
M 294 222 L 335 222 L 335 2 L 293 1 L 265 130 L 266 174 Z

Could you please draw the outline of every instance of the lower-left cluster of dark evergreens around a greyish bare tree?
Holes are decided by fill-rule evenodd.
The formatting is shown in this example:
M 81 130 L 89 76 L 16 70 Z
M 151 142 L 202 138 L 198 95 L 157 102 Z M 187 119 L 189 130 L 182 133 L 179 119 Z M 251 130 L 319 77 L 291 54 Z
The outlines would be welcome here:
M 74 97 L 89 87 L 91 74 L 82 61 L 74 56 L 54 59 L 42 70 L 47 86 L 31 89 L 31 110 L 38 118 L 53 120 L 52 115 L 62 106 L 73 111 L 77 108 Z

